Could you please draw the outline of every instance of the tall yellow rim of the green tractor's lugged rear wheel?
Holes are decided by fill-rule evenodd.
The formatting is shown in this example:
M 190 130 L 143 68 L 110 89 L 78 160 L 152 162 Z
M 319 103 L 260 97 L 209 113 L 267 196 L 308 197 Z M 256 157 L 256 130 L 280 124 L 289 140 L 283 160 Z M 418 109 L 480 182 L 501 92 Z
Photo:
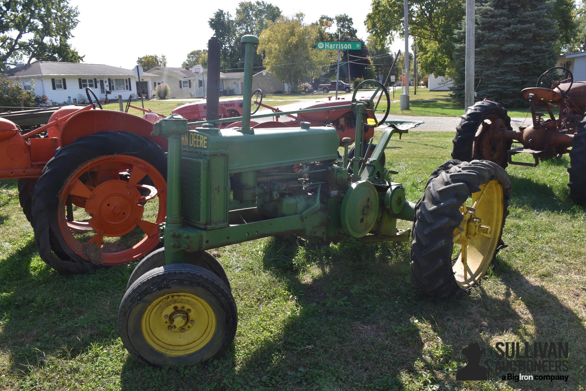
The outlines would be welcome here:
M 453 241 L 462 246 L 452 270 L 463 289 L 478 284 L 486 274 L 499 245 L 505 198 L 498 180 L 479 186 L 480 191 L 460 207 L 462 223 Z

